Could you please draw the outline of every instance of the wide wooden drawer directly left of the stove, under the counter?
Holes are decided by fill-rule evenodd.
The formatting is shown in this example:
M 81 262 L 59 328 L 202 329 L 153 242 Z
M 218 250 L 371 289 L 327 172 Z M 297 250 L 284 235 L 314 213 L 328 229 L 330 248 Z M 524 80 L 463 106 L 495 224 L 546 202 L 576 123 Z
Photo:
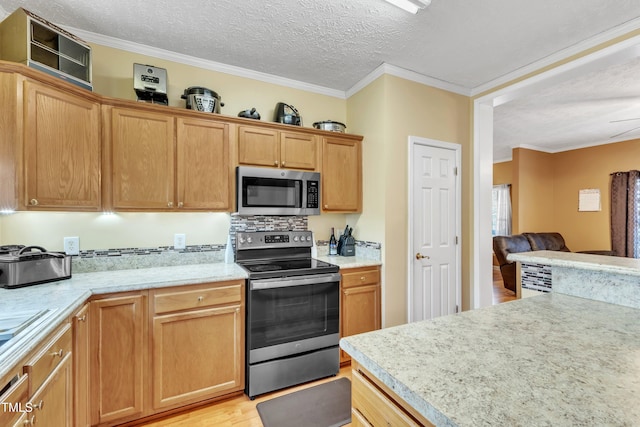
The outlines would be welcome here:
M 156 293 L 154 296 L 156 314 L 212 307 L 242 300 L 242 284 L 239 282 L 199 289 L 193 289 L 192 287 L 185 290 L 174 288 L 172 291 L 161 292 Z

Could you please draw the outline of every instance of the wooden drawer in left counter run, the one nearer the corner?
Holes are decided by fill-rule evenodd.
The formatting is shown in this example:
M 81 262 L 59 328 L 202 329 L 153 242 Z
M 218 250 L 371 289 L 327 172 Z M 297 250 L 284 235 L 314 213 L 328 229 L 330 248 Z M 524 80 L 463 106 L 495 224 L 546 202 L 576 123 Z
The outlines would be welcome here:
M 40 388 L 44 380 L 71 353 L 71 325 L 66 324 L 38 354 L 24 366 L 29 374 L 29 396 Z

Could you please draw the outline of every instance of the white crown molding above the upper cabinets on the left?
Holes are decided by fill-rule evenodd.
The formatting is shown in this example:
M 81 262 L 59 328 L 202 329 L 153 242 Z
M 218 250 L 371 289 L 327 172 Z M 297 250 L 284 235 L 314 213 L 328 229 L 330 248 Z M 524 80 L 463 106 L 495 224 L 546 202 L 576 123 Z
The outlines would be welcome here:
M 287 79 L 284 77 L 276 76 L 274 74 L 262 73 L 262 72 L 250 70 L 247 68 L 223 64 L 221 62 L 215 62 L 215 61 L 209 61 L 201 58 L 196 58 L 190 55 L 183 55 L 181 53 L 171 52 L 168 50 L 159 49 L 159 48 L 155 48 L 152 46 L 147 46 L 139 43 L 134 43 L 127 40 L 118 39 L 115 37 L 104 36 L 101 34 L 96 34 L 96 33 L 81 30 L 78 28 L 66 27 L 66 30 L 80 37 L 86 42 L 96 43 L 96 44 L 106 46 L 106 47 L 111 47 L 114 49 L 126 50 L 128 52 L 133 52 L 140 55 L 152 56 L 154 58 L 174 61 L 181 64 L 190 65 L 193 67 L 203 68 L 205 70 L 217 71 L 224 74 L 230 74 L 233 76 L 244 77 L 252 80 L 258 80 L 265 83 L 271 83 L 271 84 L 285 86 L 293 89 L 304 90 L 307 92 L 313 92 L 320 95 L 346 99 L 346 94 L 342 90 L 331 89 L 328 87 L 314 85 L 311 83 L 305 83 L 299 80 Z

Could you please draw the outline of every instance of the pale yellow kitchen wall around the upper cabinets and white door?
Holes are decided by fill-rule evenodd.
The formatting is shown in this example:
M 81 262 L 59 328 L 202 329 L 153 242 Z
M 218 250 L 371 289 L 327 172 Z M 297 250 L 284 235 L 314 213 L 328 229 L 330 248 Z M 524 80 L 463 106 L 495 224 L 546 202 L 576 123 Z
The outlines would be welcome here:
M 318 239 L 345 224 L 360 240 L 381 242 L 383 248 L 384 326 L 407 319 L 407 164 L 410 135 L 462 146 L 462 286 L 463 309 L 470 307 L 472 159 L 470 100 L 423 84 L 384 75 L 345 100 L 327 95 L 207 71 L 184 64 L 94 45 L 94 90 L 105 96 L 135 99 L 133 63 L 167 69 L 169 102 L 180 99 L 188 86 L 205 86 L 222 96 L 222 113 L 236 115 L 256 107 L 263 120 L 272 120 L 277 102 L 295 105 L 304 126 L 336 120 L 350 133 L 364 135 L 363 213 L 309 217 Z M 468 172 L 467 172 L 468 171 Z M 81 249 L 165 246 L 173 234 L 185 233 L 187 244 L 225 243 L 228 214 L 18 212 L 0 217 L 0 243 L 39 244 L 62 250 L 64 236 L 79 236 Z

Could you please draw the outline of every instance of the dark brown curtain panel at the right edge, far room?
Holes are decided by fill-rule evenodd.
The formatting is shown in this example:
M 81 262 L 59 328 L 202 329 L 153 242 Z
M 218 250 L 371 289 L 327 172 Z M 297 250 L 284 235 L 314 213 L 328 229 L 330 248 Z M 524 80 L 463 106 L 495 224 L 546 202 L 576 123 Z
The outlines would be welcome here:
M 611 177 L 611 250 L 638 258 L 638 179 L 640 172 L 616 172 Z

